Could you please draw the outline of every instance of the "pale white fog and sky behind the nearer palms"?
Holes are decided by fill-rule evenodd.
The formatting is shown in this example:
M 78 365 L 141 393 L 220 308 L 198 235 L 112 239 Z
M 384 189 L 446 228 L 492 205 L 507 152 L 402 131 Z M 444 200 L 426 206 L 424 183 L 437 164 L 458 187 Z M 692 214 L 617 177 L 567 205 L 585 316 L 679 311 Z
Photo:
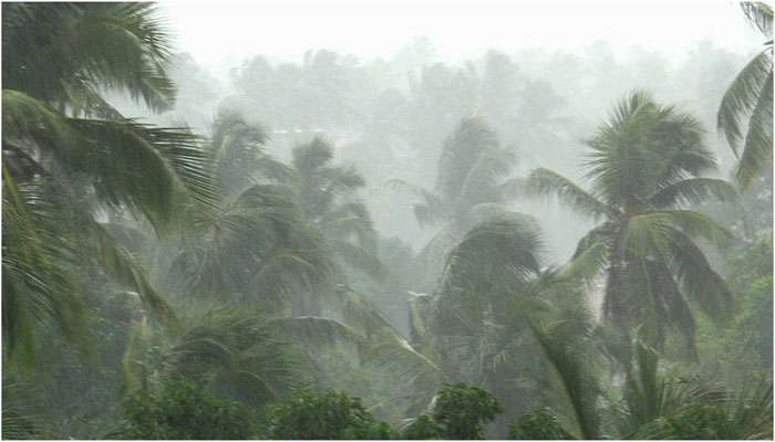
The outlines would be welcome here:
M 365 175 L 363 194 L 378 230 L 403 240 L 415 251 L 432 230 L 417 225 L 412 200 L 386 182 L 400 179 L 432 187 L 436 157 L 456 118 L 482 112 L 500 143 L 519 150 L 518 170 L 523 173 L 540 166 L 576 176 L 575 168 L 583 159 L 581 141 L 623 94 L 647 90 L 702 117 L 709 141 L 722 159 L 723 175 L 732 155 L 714 136 L 715 110 L 711 104 L 720 102 L 725 86 L 758 49 L 756 30 L 744 20 L 730 19 L 737 13 L 737 4 L 722 1 L 486 1 L 444 6 L 433 1 L 369 6 L 340 1 L 324 7 L 304 1 L 173 1 L 162 3 L 161 11 L 174 30 L 176 50 L 186 57 L 186 69 L 176 71 L 179 104 L 163 119 L 207 130 L 219 108 L 237 103 L 246 92 L 250 95 L 246 91 L 251 87 L 249 83 L 273 71 L 273 78 L 266 81 L 277 83 L 266 87 L 278 88 L 255 92 L 276 95 L 272 102 L 251 102 L 248 106 L 254 108 L 240 108 L 270 129 L 270 151 L 288 158 L 294 143 L 306 140 L 309 134 L 324 135 L 340 150 L 338 157 L 353 162 Z M 493 63 L 504 63 L 492 69 L 508 72 L 487 72 L 488 53 L 505 56 L 492 57 Z M 320 56 L 317 61 L 316 54 Z M 259 57 L 262 65 L 251 67 L 251 61 Z M 344 106 L 345 110 L 333 110 L 326 99 L 307 101 L 309 95 L 293 83 L 297 80 L 282 83 L 280 69 L 316 63 L 321 70 L 331 70 L 321 75 L 331 75 L 333 83 L 320 87 L 330 87 L 335 106 Z M 251 69 L 258 76 L 250 77 Z M 370 138 L 379 136 L 372 131 L 373 126 L 382 117 L 378 113 L 390 112 L 384 106 L 395 105 L 391 99 L 424 99 L 412 97 L 416 92 L 411 91 L 411 82 L 422 78 L 424 70 L 428 75 L 426 87 L 436 90 L 426 93 L 440 96 L 427 98 L 436 99 L 426 105 L 436 115 L 421 117 L 437 117 L 443 123 L 433 123 L 421 146 L 412 146 L 414 140 Z M 457 84 L 442 84 L 441 78 L 431 76 L 434 72 L 462 77 L 452 80 Z M 240 74 L 244 86 L 236 84 Z M 467 75 L 471 78 L 464 78 Z M 505 77 L 495 78 L 499 83 L 488 86 L 482 84 L 488 81 L 487 75 Z M 503 88 L 494 90 L 494 94 L 508 91 L 514 95 L 497 97 L 500 109 L 482 109 L 487 104 L 480 102 L 486 99 L 480 94 L 486 94 L 487 87 Z M 303 127 L 273 120 L 280 116 L 271 115 L 277 106 L 289 105 L 277 101 L 293 94 L 303 110 L 291 112 L 308 115 L 302 118 Z M 310 116 L 331 112 L 347 115 L 320 122 Z M 487 118 L 490 112 L 500 114 Z M 142 114 L 142 109 L 128 113 L 159 118 Z M 294 130 L 308 135 L 289 135 Z M 370 149 L 390 150 L 390 160 L 382 162 L 385 158 L 381 157 L 379 167 L 374 167 Z M 517 204 L 523 211 L 539 212 L 548 250 L 558 262 L 569 257 L 589 227 L 589 221 L 552 204 Z

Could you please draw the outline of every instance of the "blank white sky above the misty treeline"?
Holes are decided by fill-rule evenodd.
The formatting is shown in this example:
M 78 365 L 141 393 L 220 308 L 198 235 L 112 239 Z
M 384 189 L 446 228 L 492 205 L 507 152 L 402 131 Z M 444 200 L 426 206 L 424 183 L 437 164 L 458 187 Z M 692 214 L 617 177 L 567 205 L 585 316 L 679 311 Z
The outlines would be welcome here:
M 390 56 L 428 36 L 450 61 L 487 49 L 579 51 L 597 40 L 679 51 L 701 40 L 750 53 L 761 35 L 735 1 L 258 0 L 162 2 L 177 48 L 224 72 L 252 54 L 297 61 L 309 49 Z

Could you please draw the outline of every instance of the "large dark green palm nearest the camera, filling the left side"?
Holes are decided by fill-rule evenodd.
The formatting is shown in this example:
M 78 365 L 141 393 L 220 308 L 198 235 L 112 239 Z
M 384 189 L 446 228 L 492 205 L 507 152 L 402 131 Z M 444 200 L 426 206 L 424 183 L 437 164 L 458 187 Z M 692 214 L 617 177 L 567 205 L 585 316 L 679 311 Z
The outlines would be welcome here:
M 39 320 L 79 335 L 73 287 L 86 257 L 101 256 L 105 273 L 172 320 L 140 265 L 95 218 L 100 208 L 128 209 L 163 232 L 173 201 L 211 201 L 204 155 L 188 131 L 125 119 L 100 95 L 124 90 L 152 109 L 172 103 L 168 39 L 154 6 L 3 4 L 2 48 L 6 348 L 32 348 Z

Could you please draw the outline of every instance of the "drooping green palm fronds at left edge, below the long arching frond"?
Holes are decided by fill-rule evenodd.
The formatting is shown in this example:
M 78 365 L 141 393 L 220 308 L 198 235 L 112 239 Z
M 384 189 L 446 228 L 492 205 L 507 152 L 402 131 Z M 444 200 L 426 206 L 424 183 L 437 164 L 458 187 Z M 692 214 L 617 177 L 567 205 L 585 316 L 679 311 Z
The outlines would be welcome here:
M 84 308 L 73 267 L 72 244 L 58 234 L 55 209 L 38 186 L 18 186 L 6 169 L 2 187 L 2 330 L 11 359 L 34 356 L 34 329 L 52 322 L 86 349 Z

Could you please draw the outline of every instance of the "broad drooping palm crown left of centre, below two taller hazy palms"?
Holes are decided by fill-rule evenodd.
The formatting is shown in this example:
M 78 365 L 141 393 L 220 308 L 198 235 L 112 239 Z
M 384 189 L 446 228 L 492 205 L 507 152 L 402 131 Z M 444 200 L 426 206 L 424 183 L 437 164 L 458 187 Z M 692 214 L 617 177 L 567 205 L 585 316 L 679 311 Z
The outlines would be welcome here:
M 283 186 L 248 188 L 198 236 L 175 260 L 170 277 L 203 296 L 238 295 L 278 308 L 332 281 L 334 265 L 319 234 Z

